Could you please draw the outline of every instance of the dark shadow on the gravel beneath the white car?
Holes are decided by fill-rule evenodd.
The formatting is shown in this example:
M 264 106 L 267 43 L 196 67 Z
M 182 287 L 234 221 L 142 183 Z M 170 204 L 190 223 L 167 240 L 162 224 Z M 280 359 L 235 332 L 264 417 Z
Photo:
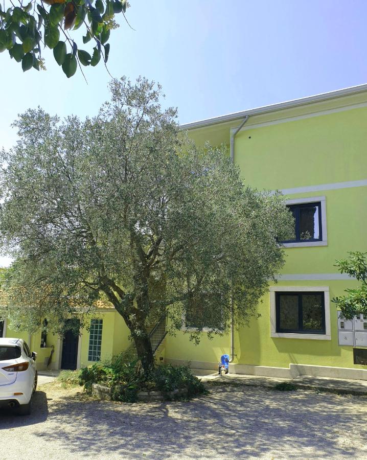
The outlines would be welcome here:
M 20 416 L 17 409 L 0 409 L 0 430 L 35 425 L 47 420 L 49 415 L 47 396 L 37 391 L 32 396 L 32 413 Z

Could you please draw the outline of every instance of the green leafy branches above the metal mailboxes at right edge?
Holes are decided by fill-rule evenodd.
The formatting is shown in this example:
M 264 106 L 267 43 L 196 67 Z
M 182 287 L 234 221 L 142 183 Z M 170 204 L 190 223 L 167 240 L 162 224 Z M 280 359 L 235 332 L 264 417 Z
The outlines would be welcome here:
M 362 284 L 356 289 L 346 289 L 347 295 L 333 298 L 343 317 L 352 319 L 354 315 L 367 315 L 367 252 L 349 252 L 348 259 L 336 261 L 340 273 L 347 273 Z

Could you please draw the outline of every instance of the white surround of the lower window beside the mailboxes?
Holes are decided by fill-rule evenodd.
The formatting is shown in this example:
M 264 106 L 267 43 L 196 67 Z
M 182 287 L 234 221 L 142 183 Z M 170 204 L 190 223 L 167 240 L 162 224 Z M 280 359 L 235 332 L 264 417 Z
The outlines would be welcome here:
M 329 286 L 273 286 L 270 287 L 270 337 L 307 340 L 331 340 Z M 324 292 L 325 334 L 297 334 L 277 332 L 276 292 Z

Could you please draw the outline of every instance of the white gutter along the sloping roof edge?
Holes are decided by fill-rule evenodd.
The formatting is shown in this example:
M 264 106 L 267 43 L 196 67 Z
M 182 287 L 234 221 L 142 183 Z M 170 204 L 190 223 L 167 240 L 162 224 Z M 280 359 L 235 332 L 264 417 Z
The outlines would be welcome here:
M 192 122 L 192 123 L 185 123 L 183 125 L 180 125 L 180 129 L 200 128 L 202 126 L 209 126 L 209 125 L 214 125 L 217 123 L 224 123 L 228 121 L 239 120 L 241 118 L 246 117 L 247 115 L 250 117 L 253 115 L 259 115 L 261 113 L 274 112 L 277 110 L 290 108 L 290 107 L 298 107 L 298 106 L 310 104 L 312 102 L 327 101 L 330 99 L 338 98 L 340 96 L 349 96 L 353 94 L 363 93 L 363 91 L 367 91 L 367 84 L 351 86 L 349 88 L 338 89 L 336 91 L 329 91 L 329 93 L 322 93 L 322 94 L 317 94 L 315 96 L 308 96 L 306 98 L 293 99 L 291 101 L 281 102 L 278 104 L 265 105 L 263 107 L 243 110 L 240 112 L 228 113 L 227 115 L 221 115 L 219 117 L 208 118 L 206 120 L 199 120 L 199 121 Z

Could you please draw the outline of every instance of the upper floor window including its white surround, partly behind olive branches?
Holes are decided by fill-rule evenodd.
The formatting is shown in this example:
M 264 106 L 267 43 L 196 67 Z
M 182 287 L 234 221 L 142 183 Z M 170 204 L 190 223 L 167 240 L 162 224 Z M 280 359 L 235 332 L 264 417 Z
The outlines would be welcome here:
M 292 235 L 282 241 L 285 247 L 326 246 L 326 198 L 300 198 L 288 200 L 287 208 L 292 213 L 294 227 Z

